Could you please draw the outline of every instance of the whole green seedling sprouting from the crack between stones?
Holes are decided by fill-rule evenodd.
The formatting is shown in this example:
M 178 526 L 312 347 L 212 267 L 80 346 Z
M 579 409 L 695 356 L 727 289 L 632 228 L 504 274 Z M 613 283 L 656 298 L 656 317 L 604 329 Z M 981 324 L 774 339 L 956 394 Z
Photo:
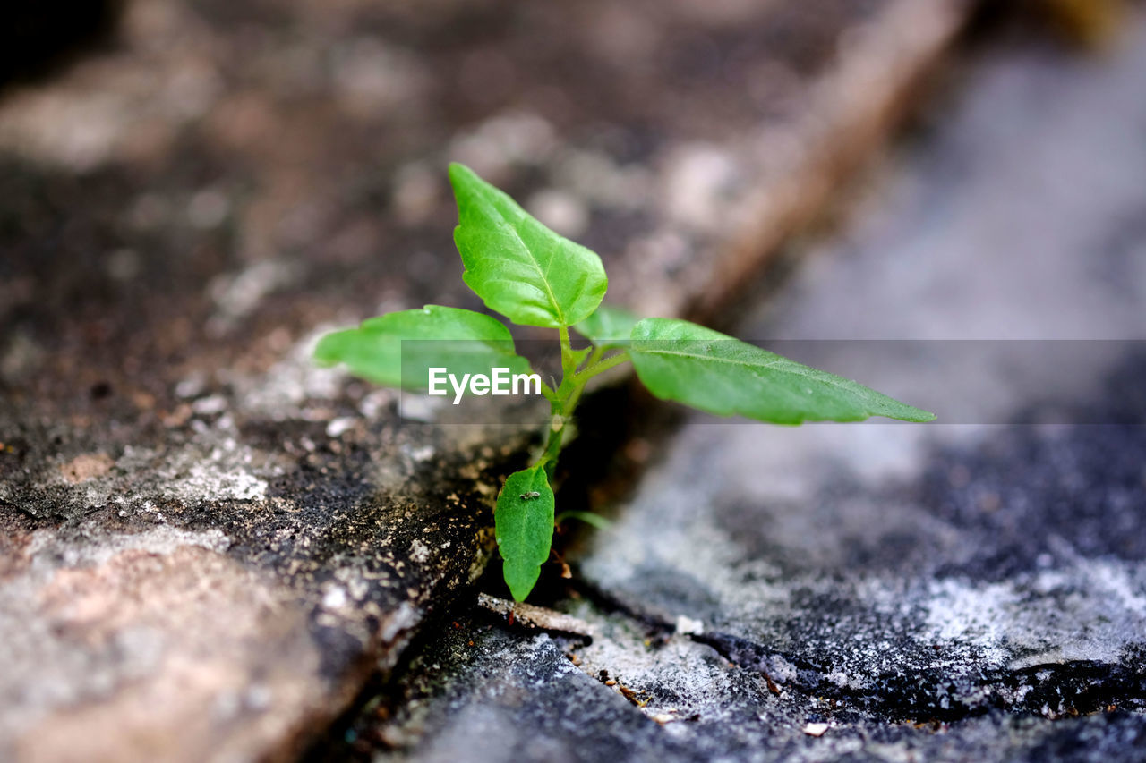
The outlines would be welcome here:
M 934 417 L 855 382 L 801 365 L 688 321 L 649 317 L 602 305 L 609 284 L 601 258 L 535 220 L 513 199 L 461 164 L 449 180 L 460 222 L 454 241 L 462 278 L 492 310 L 513 323 L 556 329 L 562 379 L 541 383 L 550 404 L 548 439 L 533 464 L 505 480 L 494 512 L 504 577 L 525 599 L 549 558 L 554 535 L 550 480 L 586 385 L 595 376 L 631 362 L 658 398 L 721 416 L 740 415 L 775 424 L 808 420 L 857 422 L 886 416 L 909 422 Z M 574 349 L 570 329 L 591 347 Z M 410 343 L 403 340 L 449 340 Z M 502 367 L 528 372 L 509 329 L 488 315 L 427 305 L 387 313 L 358 329 L 324 336 L 319 362 L 345 363 L 372 382 L 426 388 L 427 371 L 488 372 Z

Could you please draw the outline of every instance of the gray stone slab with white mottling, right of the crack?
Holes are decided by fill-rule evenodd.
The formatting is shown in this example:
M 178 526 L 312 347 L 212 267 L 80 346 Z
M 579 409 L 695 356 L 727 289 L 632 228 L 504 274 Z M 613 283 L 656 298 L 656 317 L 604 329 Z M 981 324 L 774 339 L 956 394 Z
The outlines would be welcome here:
M 968 64 L 948 117 L 737 332 L 1141 337 L 1146 23 L 1121 42 L 1101 58 L 1029 44 Z M 948 423 L 689 419 L 551 593 L 591 642 L 460 622 L 335 749 L 1139 760 L 1146 355 L 1109 347 L 1061 369 L 1074 382 L 1057 416 L 1073 420 L 1037 423 L 1044 403 L 1020 391 L 1044 371 L 1007 363 L 1023 343 L 942 380 L 967 398 L 951 410 L 978 411 Z M 981 400 L 984 377 L 1002 392 Z M 861 373 L 909 401 L 919 378 Z

